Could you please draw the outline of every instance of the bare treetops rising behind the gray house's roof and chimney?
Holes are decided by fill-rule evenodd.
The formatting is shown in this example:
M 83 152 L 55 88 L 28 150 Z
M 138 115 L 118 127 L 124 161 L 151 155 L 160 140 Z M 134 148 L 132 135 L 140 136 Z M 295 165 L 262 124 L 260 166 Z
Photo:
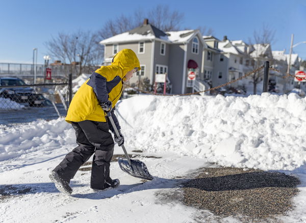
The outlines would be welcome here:
M 127 32 L 140 26 L 145 18 L 148 18 L 150 24 L 162 31 L 177 31 L 184 19 L 184 13 L 171 11 L 166 5 L 157 5 L 146 13 L 137 9 L 133 15 L 122 14 L 115 19 L 107 20 L 102 29 L 98 31 L 98 35 L 103 40 Z

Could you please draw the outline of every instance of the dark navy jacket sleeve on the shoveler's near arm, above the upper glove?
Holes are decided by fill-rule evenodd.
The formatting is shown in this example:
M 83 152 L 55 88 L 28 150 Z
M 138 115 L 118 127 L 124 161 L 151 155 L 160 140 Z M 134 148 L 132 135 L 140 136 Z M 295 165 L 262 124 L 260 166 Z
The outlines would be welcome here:
M 106 78 L 104 76 L 94 72 L 90 76 L 90 80 L 87 82 L 87 85 L 93 88 L 99 103 L 106 102 L 108 100 Z

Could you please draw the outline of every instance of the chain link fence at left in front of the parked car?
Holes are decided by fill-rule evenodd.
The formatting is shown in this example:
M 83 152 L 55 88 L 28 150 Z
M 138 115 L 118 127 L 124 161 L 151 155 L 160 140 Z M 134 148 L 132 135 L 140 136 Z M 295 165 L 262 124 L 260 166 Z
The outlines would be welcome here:
M 0 126 L 66 116 L 72 98 L 70 81 L 25 85 L 16 77 L 0 78 Z

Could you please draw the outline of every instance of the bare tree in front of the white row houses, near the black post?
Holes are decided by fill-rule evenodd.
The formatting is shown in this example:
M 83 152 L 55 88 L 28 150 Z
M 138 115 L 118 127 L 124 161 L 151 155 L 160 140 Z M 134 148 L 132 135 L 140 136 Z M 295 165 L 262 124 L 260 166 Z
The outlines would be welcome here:
M 249 38 L 249 47 L 252 49 L 250 53 L 257 50 L 255 55 L 250 56 L 250 64 L 253 70 L 258 69 L 265 61 L 273 63 L 272 54 L 264 53 L 264 49 L 271 47 L 275 42 L 275 30 L 267 24 L 263 24 L 262 29 L 254 31 L 253 37 Z M 263 79 L 263 70 L 257 71 L 251 75 L 253 83 L 253 94 L 257 93 L 257 85 Z

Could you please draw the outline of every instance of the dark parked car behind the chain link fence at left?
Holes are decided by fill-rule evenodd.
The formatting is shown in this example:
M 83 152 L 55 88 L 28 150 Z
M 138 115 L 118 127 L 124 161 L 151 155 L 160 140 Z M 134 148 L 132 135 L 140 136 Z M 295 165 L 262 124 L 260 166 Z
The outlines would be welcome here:
M 41 94 L 35 94 L 30 87 L 13 87 L 25 85 L 25 82 L 17 77 L 0 77 L 0 86 L 12 86 L 12 88 L 0 88 L 0 97 L 9 98 L 17 103 L 29 103 L 30 106 L 43 106 L 45 98 Z

